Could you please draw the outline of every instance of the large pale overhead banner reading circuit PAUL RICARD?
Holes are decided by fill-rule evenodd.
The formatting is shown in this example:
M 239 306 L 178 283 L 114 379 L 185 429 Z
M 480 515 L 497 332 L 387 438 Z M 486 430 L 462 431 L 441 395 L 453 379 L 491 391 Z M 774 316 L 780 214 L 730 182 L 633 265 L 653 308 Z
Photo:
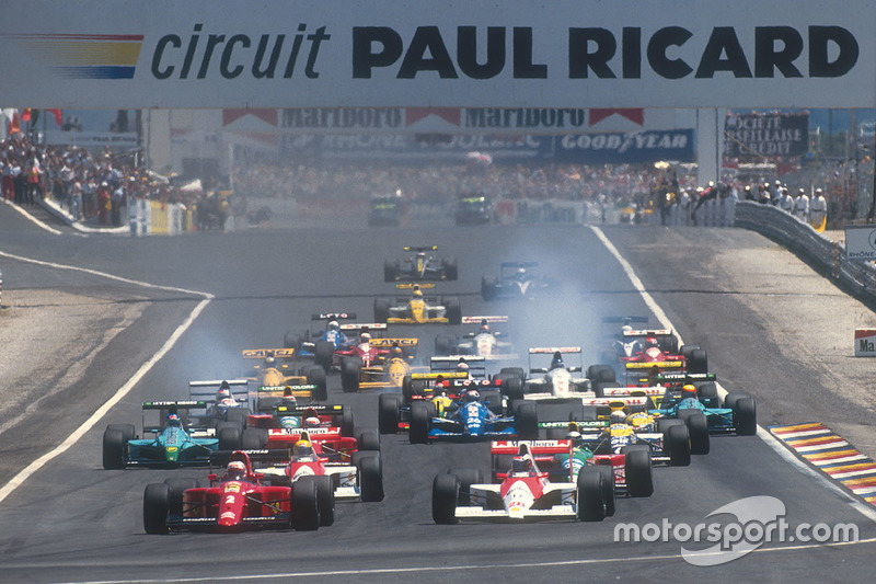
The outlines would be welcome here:
M 4 0 L 8 107 L 873 107 L 876 0 Z

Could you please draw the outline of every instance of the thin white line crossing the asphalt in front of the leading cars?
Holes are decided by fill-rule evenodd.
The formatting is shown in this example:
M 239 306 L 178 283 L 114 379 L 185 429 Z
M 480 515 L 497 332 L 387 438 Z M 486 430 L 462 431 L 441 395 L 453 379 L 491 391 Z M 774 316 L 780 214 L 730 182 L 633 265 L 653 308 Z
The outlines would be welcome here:
M 861 539 L 858 541 L 838 542 L 838 543 L 805 543 L 798 546 L 785 546 L 776 548 L 759 548 L 749 552 L 753 556 L 756 553 L 776 553 L 785 551 L 800 551 L 800 550 L 822 550 L 825 548 L 840 548 L 848 546 L 858 546 L 862 543 L 876 543 L 876 538 Z M 725 552 L 715 552 L 721 556 Z M 369 576 L 369 575 L 385 575 L 385 574 L 415 574 L 418 572 L 426 572 L 430 575 L 442 572 L 460 572 L 473 570 L 522 570 L 522 569 L 545 569 L 545 568 L 562 568 L 562 566 L 578 566 L 578 565 L 599 565 L 599 564 L 613 564 L 613 563 L 631 563 L 631 562 L 654 562 L 658 560 L 670 560 L 678 562 L 682 560 L 683 556 L 680 553 L 667 553 L 662 556 L 624 556 L 623 558 L 593 558 L 589 560 L 566 560 L 558 562 L 518 562 L 518 563 L 504 563 L 493 565 L 429 565 L 429 566 L 414 566 L 414 568 L 374 568 L 366 570 L 326 570 L 324 572 L 285 572 L 276 574 L 253 574 L 253 575 L 238 575 L 238 576 L 205 576 L 205 577 L 172 577 L 172 579 L 131 579 L 131 580 L 85 580 L 85 581 L 68 581 L 57 582 L 55 584 L 189 584 L 193 582 L 240 582 L 240 581 L 269 581 L 281 580 L 289 581 L 292 579 L 306 577 L 325 577 L 325 576 Z

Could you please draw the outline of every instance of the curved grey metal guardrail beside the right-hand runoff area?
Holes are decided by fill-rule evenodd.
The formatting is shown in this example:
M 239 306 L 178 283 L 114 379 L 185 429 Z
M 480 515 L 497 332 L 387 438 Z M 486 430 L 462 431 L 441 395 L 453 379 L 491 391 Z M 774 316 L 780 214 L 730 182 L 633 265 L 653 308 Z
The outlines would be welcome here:
M 876 302 L 876 266 L 848 260 L 845 244 L 822 236 L 808 224 L 772 205 L 740 201 L 736 205 L 736 226 L 758 231 L 809 260 L 852 294 Z

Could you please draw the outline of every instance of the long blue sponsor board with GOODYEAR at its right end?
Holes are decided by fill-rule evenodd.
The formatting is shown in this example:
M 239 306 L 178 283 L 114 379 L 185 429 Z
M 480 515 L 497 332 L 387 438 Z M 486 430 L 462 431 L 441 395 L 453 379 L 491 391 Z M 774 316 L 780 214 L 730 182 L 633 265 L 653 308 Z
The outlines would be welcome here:
M 483 152 L 496 164 L 554 161 L 579 164 L 649 163 L 694 160 L 692 129 L 643 130 L 564 136 L 484 135 L 307 135 L 285 136 L 280 151 L 320 159 L 392 159 L 411 163 L 464 160 Z

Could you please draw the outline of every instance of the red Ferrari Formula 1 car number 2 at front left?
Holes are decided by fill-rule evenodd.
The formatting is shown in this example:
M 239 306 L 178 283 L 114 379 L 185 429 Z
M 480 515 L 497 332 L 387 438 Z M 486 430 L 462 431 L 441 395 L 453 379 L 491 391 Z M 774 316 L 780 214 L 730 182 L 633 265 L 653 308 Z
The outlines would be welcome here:
M 292 485 L 270 485 L 253 471 L 250 457 L 235 451 L 227 473 L 210 485 L 168 479 L 143 492 L 147 534 L 177 530 L 238 531 L 249 528 L 313 530 L 334 522 L 334 492 L 315 477 Z

